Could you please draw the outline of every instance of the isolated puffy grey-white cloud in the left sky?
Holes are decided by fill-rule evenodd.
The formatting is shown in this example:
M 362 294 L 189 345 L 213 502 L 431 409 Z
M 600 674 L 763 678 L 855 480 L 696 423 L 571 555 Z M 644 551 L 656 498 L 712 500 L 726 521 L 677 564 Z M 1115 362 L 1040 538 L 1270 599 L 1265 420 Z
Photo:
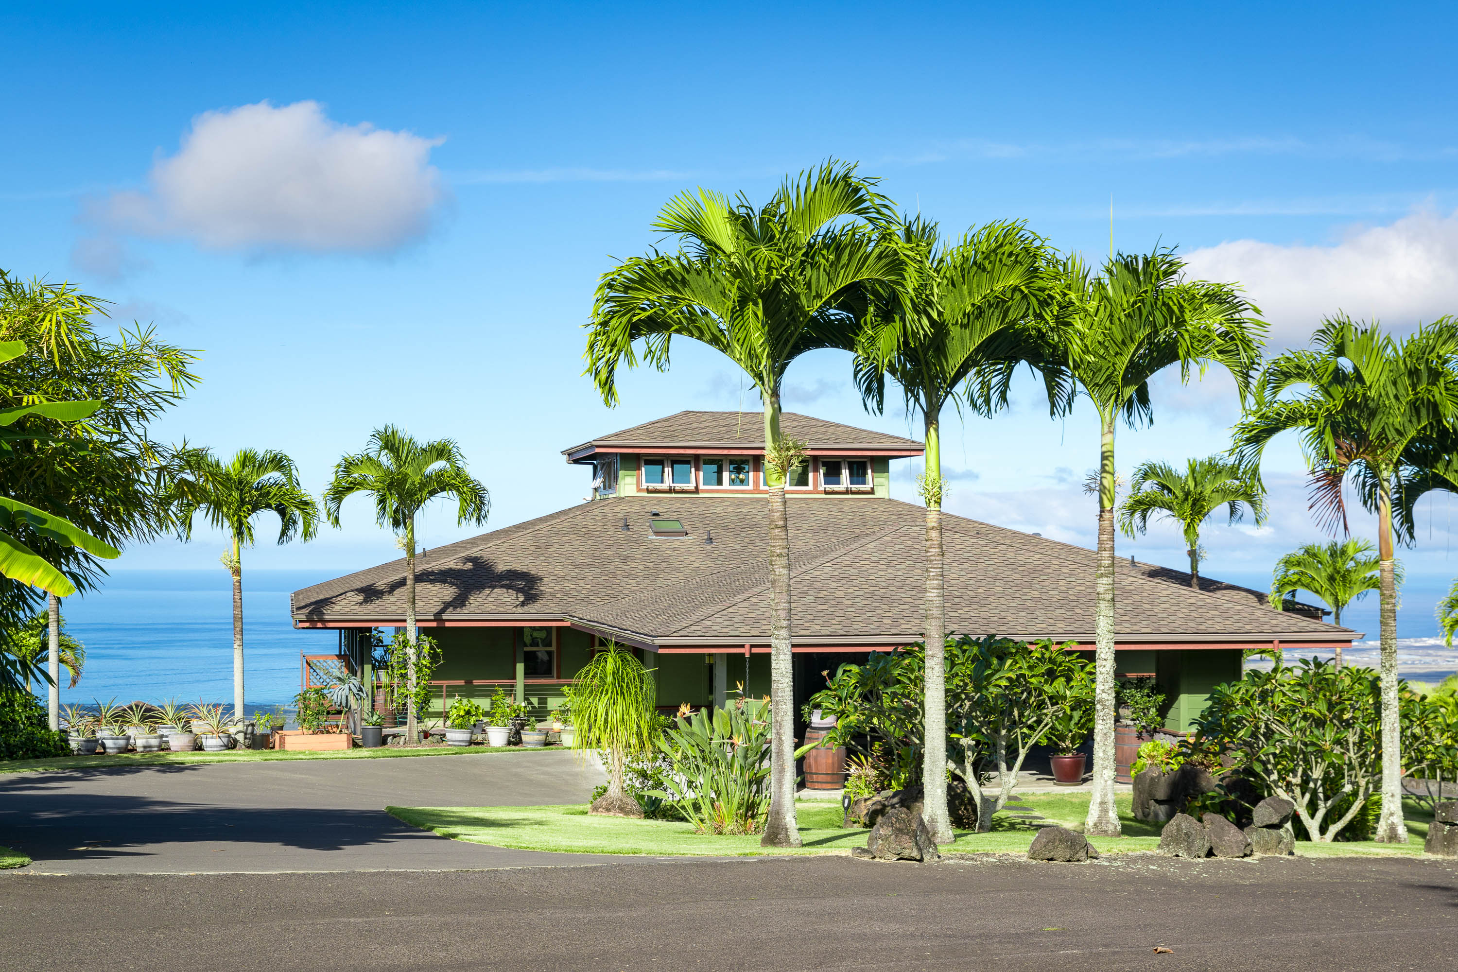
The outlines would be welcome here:
M 445 197 L 429 165 L 437 144 L 331 121 L 312 101 L 210 111 L 192 119 L 176 154 L 152 166 L 147 191 L 96 200 L 86 219 L 101 240 L 134 235 L 223 251 L 391 252 L 430 229 Z M 82 240 L 79 261 L 87 246 L 108 252 Z

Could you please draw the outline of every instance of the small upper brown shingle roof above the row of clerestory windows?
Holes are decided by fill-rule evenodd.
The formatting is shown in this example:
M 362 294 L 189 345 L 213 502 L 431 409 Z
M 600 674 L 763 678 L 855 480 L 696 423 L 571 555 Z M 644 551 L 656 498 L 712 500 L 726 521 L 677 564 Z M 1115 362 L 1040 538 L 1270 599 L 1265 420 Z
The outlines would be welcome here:
M 812 450 L 882 449 L 921 455 L 921 443 L 882 431 L 841 426 L 799 412 L 783 412 L 780 428 L 792 439 L 802 439 Z M 564 456 L 583 449 L 599 452 L 637 452 L 643 449 L 754 449 L 764 447 L 764 417 L 760 412 L 691 412 L 655 418 L 580 446 L 563 449 Z

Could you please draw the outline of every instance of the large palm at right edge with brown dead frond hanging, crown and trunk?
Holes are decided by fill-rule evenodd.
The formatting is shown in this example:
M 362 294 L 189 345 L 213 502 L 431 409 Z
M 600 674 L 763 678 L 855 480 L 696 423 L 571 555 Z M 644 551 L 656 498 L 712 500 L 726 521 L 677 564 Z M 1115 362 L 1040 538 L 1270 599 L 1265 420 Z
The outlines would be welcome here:
M 1271 439 L 1299 431 L 1311 468 L 1311 509 L 1333 530 L 1346 532 L 1343 487 L 1350 479 L 1378 517 L 1382 602 L 1382 813 L 1373 839 L 1407 842 L 1403 822 L 1403 746 L 1397 676 L 1397 564 L 1394 506 L 1401 512 L 1408 481 L 1422 468 L 1410 459 L 1424 437 L 1443 437 L 1458 421 L 1458 324 L 1441 318 L 1404 340 L 1346 315 L 1325 318 L 1309 351 L 1286 351 L 1261 373 L 1255 405 L 1235 427 L 1235 449 L 1260 460 Z M 1303 385 L 1292 399 L 1279 395 Z M 1422 488 L 1419 484 L 1413 491 Z M 1401 526 L 1401 520 L 1400 520 Z M 1411 522 L 1398 539 L 1411 541 Z M 1406 533 L 1406 535 L 1404 535 Z

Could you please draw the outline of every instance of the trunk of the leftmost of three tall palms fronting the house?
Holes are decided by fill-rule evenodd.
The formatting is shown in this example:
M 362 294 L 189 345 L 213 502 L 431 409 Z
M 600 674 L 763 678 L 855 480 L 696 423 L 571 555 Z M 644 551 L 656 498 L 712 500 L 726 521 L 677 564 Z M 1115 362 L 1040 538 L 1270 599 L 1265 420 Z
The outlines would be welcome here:
M 765 392 L 764 447 L 780 442 L 780 395 Z M 768 475 L 768 463 L 764 463 Z M 784 479 L 770 487 L 770 813 L 763 847 L 799 847 L 795 819 L 795 654 L 790 647 L 790 528 Z

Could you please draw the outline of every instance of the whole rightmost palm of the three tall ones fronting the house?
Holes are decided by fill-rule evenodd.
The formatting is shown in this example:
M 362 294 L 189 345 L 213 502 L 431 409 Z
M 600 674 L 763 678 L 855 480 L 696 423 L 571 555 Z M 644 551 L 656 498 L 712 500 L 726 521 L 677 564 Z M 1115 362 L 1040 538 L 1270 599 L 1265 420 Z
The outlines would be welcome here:
M 1099 417 L 1098 561 L 1095 568 L 1094 793 L 1088 834 L 1120 834 L 1114 807 L 1114 424 L 1153 418 L 1149 379 L 1178 364 L 1188 380 L 1212 363 L 1235 376 L 1244 396 L 1264 322 L 1231 284 L 1185 281 L 1169 251 L 1111 256 L 1095 277 L 1064 262 L 1060 309 L 1064 367 Z

